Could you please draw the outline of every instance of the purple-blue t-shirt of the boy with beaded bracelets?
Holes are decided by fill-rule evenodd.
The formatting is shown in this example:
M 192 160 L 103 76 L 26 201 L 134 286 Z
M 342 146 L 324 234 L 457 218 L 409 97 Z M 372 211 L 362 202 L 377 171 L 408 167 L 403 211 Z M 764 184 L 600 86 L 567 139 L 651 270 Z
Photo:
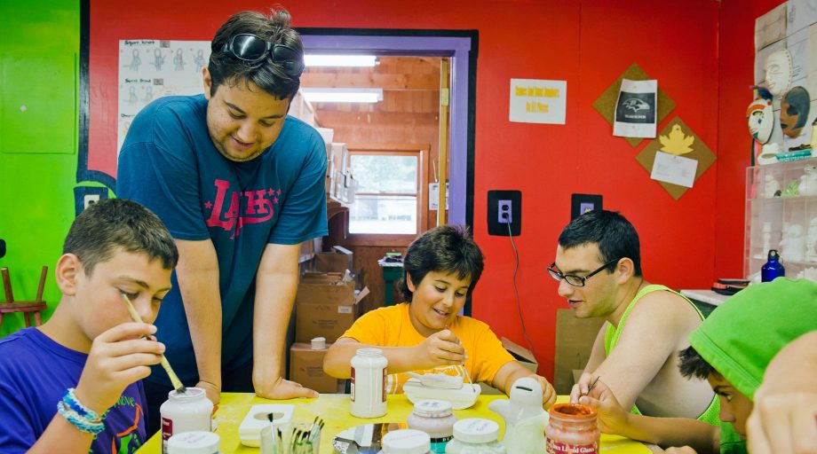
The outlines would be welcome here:
M 0 452 L 31 448 L 57 414 L 66 389 L 76 387 L 87 359 L 33 327 L 0 339 Z M 126 387 L 107 412 L 105 430 L 91 442 L 91 452 L 136 452 L 147 440 L 144 402 L 141 381 Z

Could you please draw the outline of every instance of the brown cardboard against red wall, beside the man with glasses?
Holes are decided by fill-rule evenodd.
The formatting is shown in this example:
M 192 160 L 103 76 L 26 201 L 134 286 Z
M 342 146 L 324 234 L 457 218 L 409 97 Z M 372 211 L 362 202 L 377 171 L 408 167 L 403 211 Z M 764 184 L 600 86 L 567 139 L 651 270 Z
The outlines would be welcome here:
M 583 371 L 604 318 L 576 318 L 572 309 L 556 310 L 556 356 L 553 387 L 560 395 L 570 394 L 574 371 Z M 581 372 L 579 373 L 581 376 Z

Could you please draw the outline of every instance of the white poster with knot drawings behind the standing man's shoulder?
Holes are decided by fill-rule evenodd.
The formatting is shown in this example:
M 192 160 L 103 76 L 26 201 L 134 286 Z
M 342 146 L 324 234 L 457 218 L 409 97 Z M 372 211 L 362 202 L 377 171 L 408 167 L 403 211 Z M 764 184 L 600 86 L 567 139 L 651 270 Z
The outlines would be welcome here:
M 155 98 L 202 93 L 210 41 L 119 41 L 119 117 L 116 149 L 133 117 Z

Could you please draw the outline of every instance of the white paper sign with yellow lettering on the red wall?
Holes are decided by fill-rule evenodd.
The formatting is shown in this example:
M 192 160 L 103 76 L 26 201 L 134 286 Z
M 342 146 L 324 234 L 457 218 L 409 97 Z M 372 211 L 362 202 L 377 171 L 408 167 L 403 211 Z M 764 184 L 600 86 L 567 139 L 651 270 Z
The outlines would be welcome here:
M 567 81 L 511 79 L 510 121 L 565 124 L 566 106 Z

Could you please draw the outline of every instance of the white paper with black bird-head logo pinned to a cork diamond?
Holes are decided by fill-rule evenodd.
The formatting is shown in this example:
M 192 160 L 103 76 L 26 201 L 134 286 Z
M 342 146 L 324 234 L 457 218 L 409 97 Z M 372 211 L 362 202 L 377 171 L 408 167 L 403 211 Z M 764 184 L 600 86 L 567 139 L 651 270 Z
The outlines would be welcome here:
M 658 81 L 622 80 L 615 102 L 613 135 L 617 137 L 655 137 L 655 112 Z

